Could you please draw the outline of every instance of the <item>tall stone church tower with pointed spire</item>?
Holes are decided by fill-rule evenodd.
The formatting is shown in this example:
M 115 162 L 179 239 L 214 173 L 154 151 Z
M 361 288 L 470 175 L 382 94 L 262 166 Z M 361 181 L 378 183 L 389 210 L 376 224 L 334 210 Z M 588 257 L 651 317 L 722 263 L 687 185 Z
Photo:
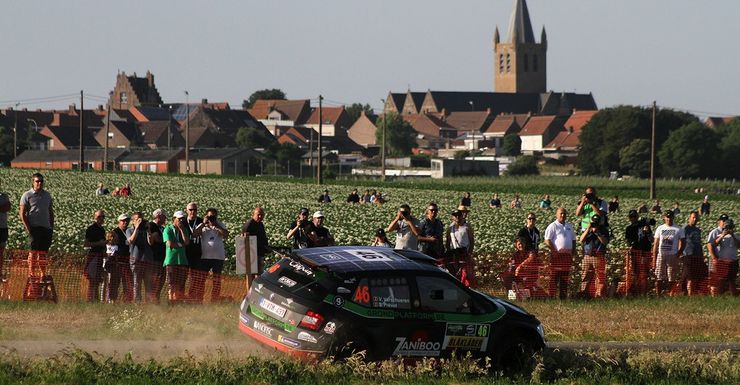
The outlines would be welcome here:
M 496 92 L 547 92 L 547 35 L 542 27 L 540 42 L 534 40 L 526 0 L 514 0 L 509 36 L 501 42 L 493 35 L 494 89 Z

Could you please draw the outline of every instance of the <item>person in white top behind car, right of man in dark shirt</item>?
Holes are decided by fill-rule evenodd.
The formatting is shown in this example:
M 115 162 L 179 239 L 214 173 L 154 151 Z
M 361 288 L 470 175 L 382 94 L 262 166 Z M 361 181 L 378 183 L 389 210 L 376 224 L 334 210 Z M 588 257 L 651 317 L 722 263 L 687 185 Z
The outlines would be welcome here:
M 448 261 L 453 269 L 450 270 L 465 286 L 475 286 L 473 271 L 473 250 L 475 237 L 473 228 L 465 221 L 465 214 L 460 210 L 452 210 L 452 222 L 447 231 L 445 245 L 450 257 Z

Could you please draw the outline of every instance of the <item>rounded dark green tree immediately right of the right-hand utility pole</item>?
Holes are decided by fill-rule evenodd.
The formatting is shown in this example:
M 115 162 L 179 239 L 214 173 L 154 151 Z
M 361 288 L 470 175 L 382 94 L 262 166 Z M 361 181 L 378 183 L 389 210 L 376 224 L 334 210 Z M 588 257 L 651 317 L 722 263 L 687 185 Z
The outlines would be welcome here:
M 671 135 L 658 152 L 663 176 L 713 177 L 717 169 L 719 136 L 716 131 L 699 123 L 689 123 Z

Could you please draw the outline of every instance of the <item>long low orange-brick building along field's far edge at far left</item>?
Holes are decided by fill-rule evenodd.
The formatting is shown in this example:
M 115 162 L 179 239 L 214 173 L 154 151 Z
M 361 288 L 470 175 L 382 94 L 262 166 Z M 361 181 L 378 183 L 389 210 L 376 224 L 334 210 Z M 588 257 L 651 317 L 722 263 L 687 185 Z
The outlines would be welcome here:
M 126 153 L 127 150 L 123 148 L 109 149 L 109 169 L 113 169 Z M 102 166 L 104 157 L 104 150 L 102 149 L 86 149 L 84 152 L 86 169 L 101 170 L 103 168 Z M 78 170 L 79 165 L 79 150 L 26 150 L 10 162 L 10 166 L 13 168 L 30 169 Z

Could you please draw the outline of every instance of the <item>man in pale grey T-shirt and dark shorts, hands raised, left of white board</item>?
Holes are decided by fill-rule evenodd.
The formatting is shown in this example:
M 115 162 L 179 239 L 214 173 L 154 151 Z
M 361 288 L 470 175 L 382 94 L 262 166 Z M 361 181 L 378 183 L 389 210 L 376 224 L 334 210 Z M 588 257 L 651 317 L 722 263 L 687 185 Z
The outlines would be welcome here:
M 224 260 L 226 260 L 226 249 L 224 239 L 229 236 L 229 230 L 226 225 L 218 220 L 218 210 L 210 208 L 206 211 L 206 217 L 203 224 L 196 229 L 202 242 L 200 243 L 201 254 L 200 265 L 198 270 L 206 277 L 209 272 L 213 272 L 213 289 L 211 290 L 211 302 L 219 302 L 224 298 L 221 297 L 221 273 L 224 270 Z M 205 282 L 205 281 L 203 281 Z M 201 286 L 196 290 L 198 297 L 196 301 L 203 300 L 204 288 Z

